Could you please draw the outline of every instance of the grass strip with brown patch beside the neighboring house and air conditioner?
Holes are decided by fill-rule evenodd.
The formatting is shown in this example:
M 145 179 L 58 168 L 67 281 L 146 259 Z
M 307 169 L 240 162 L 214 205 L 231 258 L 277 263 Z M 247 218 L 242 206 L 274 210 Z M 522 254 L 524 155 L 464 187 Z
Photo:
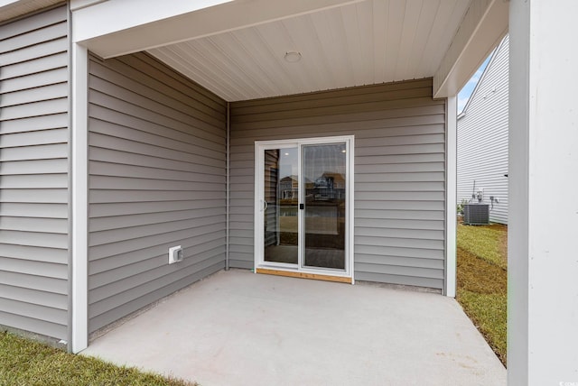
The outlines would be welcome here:
M 506 364 L 508 227 L 458 225 L 457 296 L 468 317 Z

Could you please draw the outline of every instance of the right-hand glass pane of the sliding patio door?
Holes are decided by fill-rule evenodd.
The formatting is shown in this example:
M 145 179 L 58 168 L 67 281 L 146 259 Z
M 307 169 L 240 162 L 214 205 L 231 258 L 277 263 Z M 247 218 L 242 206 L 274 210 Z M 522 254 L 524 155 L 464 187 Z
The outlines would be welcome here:
M 345 143 L 303 145 L 304 265 L 345 269 Z

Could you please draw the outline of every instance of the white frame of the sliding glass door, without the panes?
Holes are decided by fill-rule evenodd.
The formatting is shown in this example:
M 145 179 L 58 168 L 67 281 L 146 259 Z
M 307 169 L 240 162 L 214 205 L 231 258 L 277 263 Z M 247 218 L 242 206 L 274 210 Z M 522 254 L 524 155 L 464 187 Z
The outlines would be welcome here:
M 353 282 L 353 203 L 354 200 L 354 135 L 341 135 L 329 137 L 315 137 L 291 140 L 273 140 L 273 141 L 256 141 L 255 142 L 255 271 L 262 269 L 275 269 L 279 271 L 298 271 L 305 274 L 312 275 L 327 275 L 334 277 L 350 278 Z M 283 262 L 265 262 L 264 260 L 264 184 L 263 170 L 265 169 L 265 151 L 270 149 L 283 149 L 289 147 L 296 147 L 298 152 L 297 168 L 299 174 L 302 174 L 302 145 L 307 144 L 331 144 L 337 142 L 344 142 L 346 146 L 347 160 L 346 160 L 346 200 L 345 200 L 345 270 L 322 269 L 304 267 L 302 262 L 302 252 L 300 251 L 299 262 L 297 264 L 289 264 Z M 300 178 L 301 179 L 301 178 Z M 301 181 L 300 181 L 301 186 Z M 303 189 L 300 188 L 299 203 L 303 203 Z M 301 212 L 301 211 L 299 211 Z M 299 226 L 299 245 L 300 250 L 303 245 L 302 216 L 298 219 Z

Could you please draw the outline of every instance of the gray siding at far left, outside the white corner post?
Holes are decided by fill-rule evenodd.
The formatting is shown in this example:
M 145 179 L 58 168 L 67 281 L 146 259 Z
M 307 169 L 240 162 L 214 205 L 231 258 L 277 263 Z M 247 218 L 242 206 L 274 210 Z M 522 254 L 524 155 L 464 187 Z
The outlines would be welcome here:
M 68 335 L 67 9 L 0 26 L 0 325 Z

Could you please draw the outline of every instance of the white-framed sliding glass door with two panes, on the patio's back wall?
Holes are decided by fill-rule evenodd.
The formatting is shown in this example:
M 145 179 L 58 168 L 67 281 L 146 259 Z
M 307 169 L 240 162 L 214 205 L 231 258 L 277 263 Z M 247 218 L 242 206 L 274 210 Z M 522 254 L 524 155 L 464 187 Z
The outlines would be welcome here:
M 351 141 L 256 142 L 256 268 L 350 275 Z

